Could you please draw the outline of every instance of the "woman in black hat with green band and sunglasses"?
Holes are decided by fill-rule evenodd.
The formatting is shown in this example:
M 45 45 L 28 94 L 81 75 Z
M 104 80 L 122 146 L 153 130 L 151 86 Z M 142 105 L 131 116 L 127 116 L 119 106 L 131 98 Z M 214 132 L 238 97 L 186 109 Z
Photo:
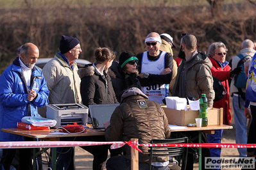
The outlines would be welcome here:
M 139 75 L 137 70 L 138 59 L 130 51 L 124 51 L 119 56 L 119 62 L 114 61 L 110 67 L 109 75 L 115 91 L 117 101 L 120 102 L 121 96 L 126 89 L 136 87 L 141 89 L 141 83 L 136 77 Z

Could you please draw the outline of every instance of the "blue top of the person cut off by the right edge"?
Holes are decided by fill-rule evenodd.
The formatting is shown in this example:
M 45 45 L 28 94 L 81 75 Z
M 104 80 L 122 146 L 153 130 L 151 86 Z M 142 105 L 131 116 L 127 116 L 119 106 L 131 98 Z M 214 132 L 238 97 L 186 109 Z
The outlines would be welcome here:
M 256 54 L 254 54 L 248 69 L 245 97 L 250 102 L 256 102 Z

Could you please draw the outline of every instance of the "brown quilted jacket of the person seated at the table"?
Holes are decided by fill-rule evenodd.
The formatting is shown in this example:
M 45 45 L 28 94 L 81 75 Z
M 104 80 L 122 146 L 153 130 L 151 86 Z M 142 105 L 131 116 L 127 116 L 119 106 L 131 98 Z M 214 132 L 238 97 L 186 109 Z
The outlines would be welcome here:
M 133 91 L 130 97 L 124 98 L 111 116 L 110 125 L 105 133 L 107 141 L 130 141 L 131 138 L 138 138 L 140 144 L 148 144 L 151 139 L 170 137 L 171 129 L 164 110 L 160 104 L 147 98 L 144 94 L 134 95 Z M 146 146 L 139 148 L 143 152 L 139 153 L 139 162 L 148 162 L 149 148 Z M 130 146 L 126 147 L 125 156 L 126 159 L 131 160 Z M 166 162 L 168 159 L 168 157 L 155 157 L 153 162 Z

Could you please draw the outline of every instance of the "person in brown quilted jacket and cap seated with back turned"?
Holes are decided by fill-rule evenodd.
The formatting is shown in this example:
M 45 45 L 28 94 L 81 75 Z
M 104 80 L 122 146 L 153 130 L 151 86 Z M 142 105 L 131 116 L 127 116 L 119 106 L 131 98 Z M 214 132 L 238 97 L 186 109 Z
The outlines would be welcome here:
M 148 97 L 138 88 L 124 91 L 121 104 L 116 107 L 110 122 L 105 124 L 107 141 L 130 141 L 139 138 L 140 144 L 148 144 L 151 139 L 168 139 L 171 135 L 164 110 L 157 102 Z M 150 127 L 150 128 L 149 128 Z M 107 160 L 107 169 L 130 169 L 130 146 L 124 145 L 126 155 L 111 157 Z M 148 147 L 139 146 L 139 168 L 148 169 Z M 169 158 L 153 159 L 152 169 L 168 169 Z

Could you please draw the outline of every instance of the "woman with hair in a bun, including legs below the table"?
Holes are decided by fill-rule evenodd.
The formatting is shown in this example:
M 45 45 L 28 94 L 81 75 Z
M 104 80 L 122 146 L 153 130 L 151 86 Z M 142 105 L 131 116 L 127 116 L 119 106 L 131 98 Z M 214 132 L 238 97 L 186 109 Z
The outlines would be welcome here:
M 78 70 L 81 78 L 81 99 L 87 107 L 92 104 L 117 104 L 115 92 L 112 86 L 108 68 L 115 59 L 112 50 L 106 47 L 99 47 L 94 52 L 96 62 L 85 65 Z M 106 141 L 105 136 L 76 137 L 76 141 Z M 92 169 L 104 168 L 104 163 L 108 157 L 107 145 L 81 146 L 86 151 L 94 155 Z M 111 151 L 111 156 L 117 155 Z

